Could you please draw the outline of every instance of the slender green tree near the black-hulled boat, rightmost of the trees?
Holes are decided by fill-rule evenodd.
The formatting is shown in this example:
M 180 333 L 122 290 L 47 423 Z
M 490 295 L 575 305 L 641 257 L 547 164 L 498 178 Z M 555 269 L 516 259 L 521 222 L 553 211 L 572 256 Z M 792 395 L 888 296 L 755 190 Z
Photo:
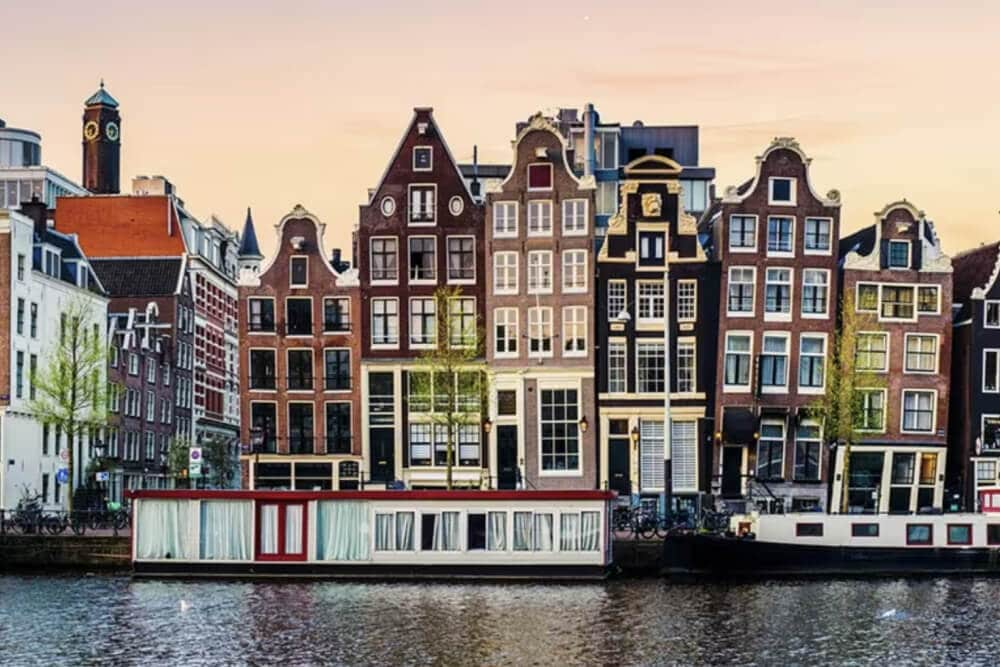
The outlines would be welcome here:
M 888 346 L 881 352 L 871 348 L 868 337 L 859 338 L 859 333 L 881 333 L 878 319 L 871 314 L 877 302 L 862 304 L 865 312 L 858 312 L 853 291 L 848 290 L 841 301 L 840 321 L 826 362 L 826 391 L 810 406 L 809 412 L 823 425 L 825 439 L 836 442 L 843 449 L 843 470 L 841 471 L 841 513 L 848 509 L 848 487 L 851 473 L 851 448 L 864 437 L 866 431 L 881 428 L 885 422 L 885 405 L 882 405 L 881 419 L 873 420 L 873 413 L 865 409 L 867 390 L 881 389 L 885 379 L 873 368 L 881 368 L 887 360 Z M 859 342 L 865 344 L 859 347 Z M 870 422 L 875 423 L 870 423 Z

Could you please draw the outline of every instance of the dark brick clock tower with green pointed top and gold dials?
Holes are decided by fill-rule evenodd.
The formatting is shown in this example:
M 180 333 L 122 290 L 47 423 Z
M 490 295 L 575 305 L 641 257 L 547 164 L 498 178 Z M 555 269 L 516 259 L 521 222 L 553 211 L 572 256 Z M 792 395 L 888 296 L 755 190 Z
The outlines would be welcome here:
M 121 116 L 118 101 L 100 89 L 83 103 L 83 187 L 95 195 L 118 194 Z

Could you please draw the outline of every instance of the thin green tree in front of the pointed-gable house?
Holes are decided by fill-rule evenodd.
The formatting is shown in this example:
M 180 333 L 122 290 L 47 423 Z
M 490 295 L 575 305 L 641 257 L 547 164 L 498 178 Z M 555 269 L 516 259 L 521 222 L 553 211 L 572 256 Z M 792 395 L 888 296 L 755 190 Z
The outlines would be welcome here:
M 434 292 L 434 347 L 420 355 L 409 374 L 411 411 L 414 407 L 426 411 L 432 428 L 445 431 L 445 485 L 449 490 L 459 432 L 467 426 L 480 428 L 489 405 L 485 336 L 475 317 L 462 311 L 462 298 L 459 287 L 439 287 Z M 432 460 L 434 441 L 432 434 Z

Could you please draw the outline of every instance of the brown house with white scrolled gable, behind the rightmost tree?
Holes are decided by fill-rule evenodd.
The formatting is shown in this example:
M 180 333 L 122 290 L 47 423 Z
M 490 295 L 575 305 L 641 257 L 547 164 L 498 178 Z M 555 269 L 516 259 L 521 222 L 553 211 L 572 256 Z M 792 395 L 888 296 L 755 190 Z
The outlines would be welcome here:
M 860 318 L 855 367 L 879 380 L 861 389 L 865 437 L 851 448 L 846 476 L 844 448 L 836 450 L 831 507 L 839 510 L 846 492 L 850 512 L 941 509 L 951 393 L 951 258 L 933 223 L 905 200 L 876 213 L 875 224 L 845 238 L 841 248 L 844 304 L 853 304 Z

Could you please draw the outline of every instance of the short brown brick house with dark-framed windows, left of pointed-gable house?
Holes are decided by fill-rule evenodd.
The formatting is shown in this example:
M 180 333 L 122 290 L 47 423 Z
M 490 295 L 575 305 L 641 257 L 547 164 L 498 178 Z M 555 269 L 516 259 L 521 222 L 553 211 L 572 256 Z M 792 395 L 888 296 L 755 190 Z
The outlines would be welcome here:
M 261 266 L 247 212 L 239 254 L 243 488 L 356 489 L 361 470 L 358 275 L 301 206 Z M 256 433 L 251 433 L 255 429 Z

